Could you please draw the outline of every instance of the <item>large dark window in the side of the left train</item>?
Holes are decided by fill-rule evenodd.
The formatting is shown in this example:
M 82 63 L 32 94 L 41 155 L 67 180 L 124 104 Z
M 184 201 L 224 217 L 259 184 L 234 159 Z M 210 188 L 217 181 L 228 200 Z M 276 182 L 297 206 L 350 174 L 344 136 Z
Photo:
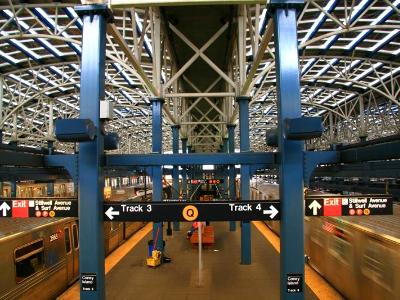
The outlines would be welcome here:
M 43 240 L 35 241 L 15 250 L 15 279 L 19 283 L 44 267 Z

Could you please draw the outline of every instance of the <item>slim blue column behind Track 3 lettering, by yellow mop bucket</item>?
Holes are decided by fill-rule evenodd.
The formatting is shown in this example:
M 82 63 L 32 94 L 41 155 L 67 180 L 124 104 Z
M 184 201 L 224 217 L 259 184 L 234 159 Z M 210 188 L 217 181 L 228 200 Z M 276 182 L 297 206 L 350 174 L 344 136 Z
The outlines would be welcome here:
M 152 105 L 152 152 L 161 153 L 162 152 L 162 106 L 164 99 L 162 98 L 151 98 Z M 153 202 L 162 201 L 162 170 L 161 167 L 153 167 L 152 172 L 153 177 Z M 158 234 L 157 234 L 158 233 Z M 153 223 L 153 241 L 156 240 L 157 243 L 155 248 L 163 251 L 163 228 L 162 222 Z

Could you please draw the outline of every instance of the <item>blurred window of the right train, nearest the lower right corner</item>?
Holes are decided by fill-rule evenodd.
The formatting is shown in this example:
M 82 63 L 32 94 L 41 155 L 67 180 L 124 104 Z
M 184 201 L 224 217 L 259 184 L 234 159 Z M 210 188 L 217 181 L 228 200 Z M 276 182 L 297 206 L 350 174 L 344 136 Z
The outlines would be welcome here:
M 362 257 L 362 274 L 390 291 L 394 282 L 392 257 L 391 250 L 385 244 L 369 238 Z

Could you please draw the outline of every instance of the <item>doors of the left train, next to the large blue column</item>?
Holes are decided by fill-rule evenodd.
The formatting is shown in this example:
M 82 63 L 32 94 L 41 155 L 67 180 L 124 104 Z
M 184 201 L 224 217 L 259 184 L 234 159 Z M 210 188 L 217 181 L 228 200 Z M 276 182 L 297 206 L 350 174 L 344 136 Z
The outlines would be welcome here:
M 79 272 L 79 237 L 76 223 L 69 223 L 64 227 L 65 259 L 67 267 L 67 282 L 72 283 Z

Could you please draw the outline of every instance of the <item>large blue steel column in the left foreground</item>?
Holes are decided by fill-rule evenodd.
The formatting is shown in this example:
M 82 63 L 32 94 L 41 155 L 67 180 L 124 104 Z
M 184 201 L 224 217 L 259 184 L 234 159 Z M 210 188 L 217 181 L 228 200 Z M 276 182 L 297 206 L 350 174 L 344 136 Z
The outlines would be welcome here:
M 79 271 L 95 273 L 96 291 L 80 292 L 81 299 L 104 299 L 103 156 L 100 100 L 104 99 L 106 6 L 80 6 L 83 18 L 80 118 L 96 126 L 96 137 L 79 144 Z

